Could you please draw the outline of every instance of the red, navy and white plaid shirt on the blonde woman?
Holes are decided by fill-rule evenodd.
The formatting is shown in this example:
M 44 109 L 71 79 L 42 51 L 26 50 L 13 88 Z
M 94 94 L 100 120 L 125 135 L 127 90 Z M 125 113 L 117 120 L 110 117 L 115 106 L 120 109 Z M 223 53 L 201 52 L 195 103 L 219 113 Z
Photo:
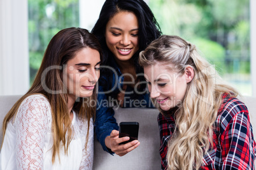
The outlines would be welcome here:
M 159 114 L 158 122 L 162 169 L 166 169 L 167 143 L 174 132 L 175 121 L 173 116 Z M 224 94 L 215 127 L 213 149 L 204 155 L 201 169 L 254 169 L 256 143 L 245 104 Z

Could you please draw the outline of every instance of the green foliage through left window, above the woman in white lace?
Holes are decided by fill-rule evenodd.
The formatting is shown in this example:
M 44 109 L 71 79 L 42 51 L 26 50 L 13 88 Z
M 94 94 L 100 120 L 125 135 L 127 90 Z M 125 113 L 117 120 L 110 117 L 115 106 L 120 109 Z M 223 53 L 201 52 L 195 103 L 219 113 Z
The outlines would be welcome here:
M 59 30 L 79 27 L 79 0 L 29 0 L 29 66 L 31 82 L 50 39 Z

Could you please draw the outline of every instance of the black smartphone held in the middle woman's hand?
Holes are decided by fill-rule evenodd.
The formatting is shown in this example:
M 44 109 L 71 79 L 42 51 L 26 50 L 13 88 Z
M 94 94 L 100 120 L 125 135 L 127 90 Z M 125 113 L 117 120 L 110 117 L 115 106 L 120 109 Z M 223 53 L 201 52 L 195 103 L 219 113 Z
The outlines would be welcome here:
M 129 143 L 133 140 L 138 140 L 139 122 L 120 122 L 119 138 L 129 136 L 130 140 L 119 143 L 119 145 Z

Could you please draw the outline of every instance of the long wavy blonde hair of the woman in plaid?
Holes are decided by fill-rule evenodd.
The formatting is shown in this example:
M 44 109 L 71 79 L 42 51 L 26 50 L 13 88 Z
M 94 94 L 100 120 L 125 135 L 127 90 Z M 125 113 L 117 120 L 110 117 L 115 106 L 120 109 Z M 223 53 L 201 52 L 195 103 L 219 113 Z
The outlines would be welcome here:
M 160 36 L 139 55 L 145 67 L 155 63 L 170 63 L 179 74 L 187 65 L 194 69 L 194 78 L 188 84 L 181 105 L 174 114 L 176 129 L 168 142 L 166 155 L 168 169 L 199 169 L 203 156 L 211 149 L 213 128 L 223 93 L 237 96 L 230 86 L 220 84 L 216 70 L 197 52 L 196 46 L 178 36 Z M 162 110 L 163 115 L 167 112 Z

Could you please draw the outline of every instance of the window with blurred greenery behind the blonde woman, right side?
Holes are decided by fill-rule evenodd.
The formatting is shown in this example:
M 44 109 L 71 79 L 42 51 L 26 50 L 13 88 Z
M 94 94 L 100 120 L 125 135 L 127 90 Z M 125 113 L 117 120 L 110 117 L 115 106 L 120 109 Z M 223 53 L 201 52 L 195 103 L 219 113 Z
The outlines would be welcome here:
M 149 6 L 163 34 L 196 44 L 224 81 L 252 95 L 250 0 L 151 0 Z

